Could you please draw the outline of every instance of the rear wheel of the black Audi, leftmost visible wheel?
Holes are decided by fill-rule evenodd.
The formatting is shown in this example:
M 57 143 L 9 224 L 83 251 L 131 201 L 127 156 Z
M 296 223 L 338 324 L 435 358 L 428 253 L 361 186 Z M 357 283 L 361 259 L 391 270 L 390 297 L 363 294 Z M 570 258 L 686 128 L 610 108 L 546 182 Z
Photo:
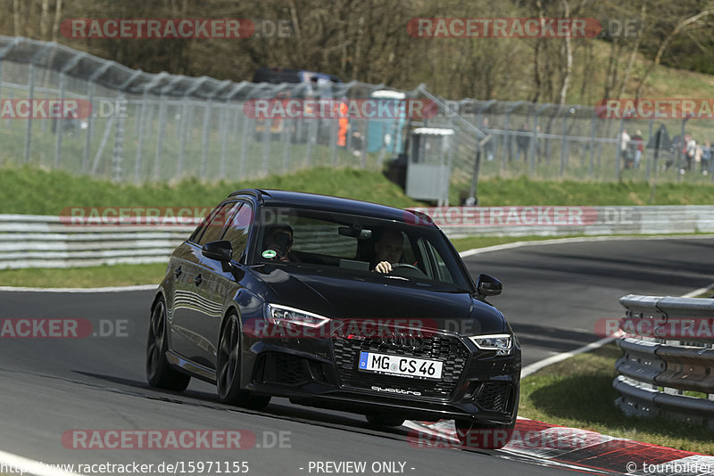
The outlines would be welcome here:
M 151 313 L 146 339 L 146 381 L 159 389 L 183 391 L 191 377 L 174 370 L 166 361 L 169 346 L 166 333 L 166 304 L 163 298 L 159 298 Z

